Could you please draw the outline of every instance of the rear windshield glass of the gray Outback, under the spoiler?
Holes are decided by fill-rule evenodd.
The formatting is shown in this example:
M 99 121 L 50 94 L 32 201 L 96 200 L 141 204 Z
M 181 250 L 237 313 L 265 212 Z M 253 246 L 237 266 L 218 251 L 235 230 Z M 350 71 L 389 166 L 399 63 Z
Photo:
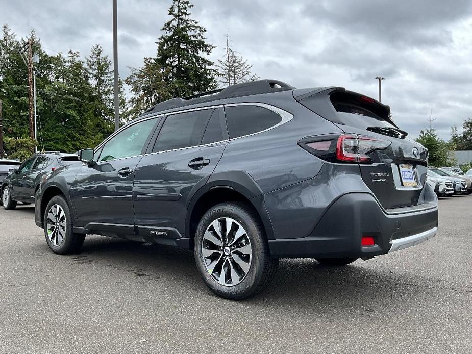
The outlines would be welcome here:
M 330 96 L 330 100 L 339 120 L 346 125 L 361 129 L 395 128 L 388 116 L 388 110 L 369 97 L 335 92 Z

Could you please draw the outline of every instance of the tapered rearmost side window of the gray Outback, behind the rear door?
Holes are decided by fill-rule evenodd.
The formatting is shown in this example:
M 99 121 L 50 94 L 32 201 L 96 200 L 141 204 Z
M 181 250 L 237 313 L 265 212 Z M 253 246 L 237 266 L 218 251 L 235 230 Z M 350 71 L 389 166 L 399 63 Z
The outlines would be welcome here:
M 259 106 L 225 107 L 226 123 L 230 139 L 262 132 L 282 121 L 282 117 Z

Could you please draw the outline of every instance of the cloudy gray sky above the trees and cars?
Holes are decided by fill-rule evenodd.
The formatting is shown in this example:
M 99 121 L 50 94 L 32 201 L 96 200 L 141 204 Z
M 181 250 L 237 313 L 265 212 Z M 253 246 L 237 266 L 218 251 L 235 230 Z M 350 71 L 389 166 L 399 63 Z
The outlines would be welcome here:
M 416 136 L 433 109 L 444 139 L 472 117 L 472 0 L 193 0 L 192 17 L 223 55 L 225 34 L 261 78 L 343 86 L 382 100 Z M 156 52 L 171 0 L 118 0 L 119 71 Z M 0 24 L 37 31 L 49 54 L 100 43 L 112 57 L 111 0 L 0 0 Z

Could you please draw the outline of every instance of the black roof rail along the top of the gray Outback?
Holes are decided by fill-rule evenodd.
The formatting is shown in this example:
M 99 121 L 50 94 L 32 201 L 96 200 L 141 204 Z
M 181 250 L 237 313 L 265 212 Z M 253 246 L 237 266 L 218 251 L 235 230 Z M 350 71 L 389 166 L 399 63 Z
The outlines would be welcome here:
M 191 105 L 194 103 L 201 103 L 207 102 L 214 99 L 222 99 L 222 98 L 231 98 L 231 97 L 239 97 L 239 96 L 248 96 L 254 95 L 258 93 L 268 93 L 268 92 L 278 92 L 278 91 L 286 91 L 286 90 L 293 90 L 294 87 L 284 83 L 279 80 L 257 80 L 257 81 L 250 81 L 245 82 L 242 84 L 231 85 L 226 88 L 207 91 L 203 93 L 198 93 L 196 95 L 188 96 L 185 98 L 172 98 L 168 99 L 164 102 L 158 103 L 153 107 L 147 109 L 145 112 L 141 114 L 141 116 L 165 111 L 171 108 L 177 108 L 180 106 Z

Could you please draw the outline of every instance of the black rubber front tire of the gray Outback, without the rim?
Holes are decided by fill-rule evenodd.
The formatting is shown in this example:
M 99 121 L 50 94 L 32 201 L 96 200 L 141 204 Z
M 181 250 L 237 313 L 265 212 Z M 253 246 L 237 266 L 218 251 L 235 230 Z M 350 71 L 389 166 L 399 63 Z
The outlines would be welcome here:
M 52 241 L 52 238 L 48 236 L 48 229 L 47 229 L 47 217 L 49 211 L 51 211 L 51 208 L 55 205 L 58 205 L 62 208 L 64 211 L 64 216 L 65 216 L 65 231 L 63 232 L 63 237 L 62 237 L 62 242 L 59 243 L 58 245 L 55 245 L 54 242 Z M 76 253 L 80 250 L 82 247 L 82 244 L 84 243 L 85 240 L 85 235 L 84 234 L 77 234 L 72 232 L 73 228 L 73 223 L 72 223 L 72 217 L 70 214 L 70 209 L 67 204 L 66 199 L 61 196 L 61 195 L 56 195 L 51 200 L 49 200 L 49 203 L 47 203 L 45 212 L 44 212 L 44 237 L 46 238 L 47 245 L 49 248 L 54 253 L 57 253 L 59 255 L 68 255 L 68 254 L 73 254 Z M 56 236 L 57 237 L 57 236 Z

